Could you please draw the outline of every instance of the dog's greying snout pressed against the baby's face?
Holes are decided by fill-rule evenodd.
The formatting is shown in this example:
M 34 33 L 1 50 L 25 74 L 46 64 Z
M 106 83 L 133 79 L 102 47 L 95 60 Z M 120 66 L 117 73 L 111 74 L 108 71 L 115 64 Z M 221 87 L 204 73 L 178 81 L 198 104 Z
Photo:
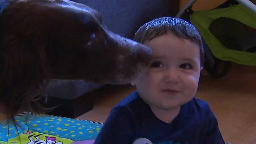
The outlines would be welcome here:
M 109 75 L 114 77 L 114 82 L 129 83 L 147 70 L 153 58 L 153 51 L 149 47 L 107 29 L 103 30 L 109 46 L 107 50 L 114 52 L 112 63 L 115 65 L 109 68 Z

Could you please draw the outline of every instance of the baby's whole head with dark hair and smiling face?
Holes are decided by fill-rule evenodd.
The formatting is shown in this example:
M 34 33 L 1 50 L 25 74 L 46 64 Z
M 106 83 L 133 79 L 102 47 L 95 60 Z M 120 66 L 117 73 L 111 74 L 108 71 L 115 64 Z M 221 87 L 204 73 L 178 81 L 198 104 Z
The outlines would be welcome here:
M 132 83 L 140 97 L 161 109 L 190 101 L 198 88 L 204 57 L 196 28 L 179 18 L 157 18 L 141 26 L 134 40 L 153 50 L 150 68 Z

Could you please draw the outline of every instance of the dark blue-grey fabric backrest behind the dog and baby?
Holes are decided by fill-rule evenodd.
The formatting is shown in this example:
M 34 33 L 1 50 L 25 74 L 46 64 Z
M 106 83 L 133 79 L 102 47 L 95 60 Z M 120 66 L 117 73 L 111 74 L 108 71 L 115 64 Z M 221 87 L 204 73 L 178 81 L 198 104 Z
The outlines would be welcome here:
M 132 38 L 136 30 L 156 17 L 175 16 L 178 0 L 73 0 L 86 4 L 103 17 L 104 24 L 113 32 Z M 172 1 L 172 2 L 171 2 Z

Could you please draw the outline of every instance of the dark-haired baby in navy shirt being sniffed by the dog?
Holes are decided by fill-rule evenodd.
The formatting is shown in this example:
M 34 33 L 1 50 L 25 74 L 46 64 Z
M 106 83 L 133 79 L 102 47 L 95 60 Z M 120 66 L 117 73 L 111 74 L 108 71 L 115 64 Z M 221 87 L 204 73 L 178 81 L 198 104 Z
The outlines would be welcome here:
M 225 144 L 207 102 L 195 98 L 203 67 L 202 39 L 189 22 L 154 19 L 134 39 L 153 50 L 137 91 L 115 106 L 95 144 Z

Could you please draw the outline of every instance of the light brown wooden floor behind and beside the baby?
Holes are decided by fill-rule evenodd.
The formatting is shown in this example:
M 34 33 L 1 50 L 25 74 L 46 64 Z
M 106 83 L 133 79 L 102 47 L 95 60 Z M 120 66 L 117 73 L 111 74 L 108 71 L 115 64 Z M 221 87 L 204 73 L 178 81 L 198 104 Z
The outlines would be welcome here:
M 210 104 L 226 142 L 256 144 L 255 88 L 256 67 L 236 65 L 221 79 L 201 77 L 196 97 Z M 78 118 L 104 122 L 111 108 L 134 90 L 130 86 L 101 90 L 94 109 Z

